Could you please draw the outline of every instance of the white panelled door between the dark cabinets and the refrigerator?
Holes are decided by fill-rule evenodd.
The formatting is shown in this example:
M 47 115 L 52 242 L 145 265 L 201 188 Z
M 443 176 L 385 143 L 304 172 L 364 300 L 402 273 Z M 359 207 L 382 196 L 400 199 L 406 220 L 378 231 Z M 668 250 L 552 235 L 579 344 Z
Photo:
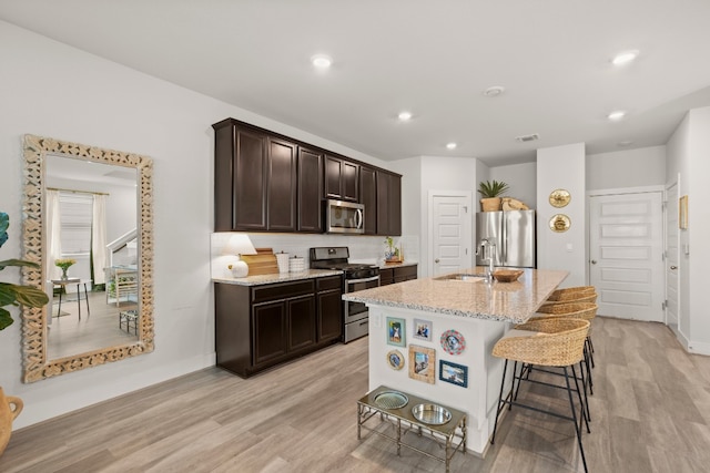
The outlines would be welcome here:
M 471 267 L 470 194 L 430 196 L 433 275 Z

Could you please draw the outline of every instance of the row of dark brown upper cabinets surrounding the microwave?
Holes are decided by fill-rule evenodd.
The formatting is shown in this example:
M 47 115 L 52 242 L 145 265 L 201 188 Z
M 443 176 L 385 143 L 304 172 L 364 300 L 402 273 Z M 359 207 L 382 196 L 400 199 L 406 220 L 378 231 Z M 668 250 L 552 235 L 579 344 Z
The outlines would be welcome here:
M 365 205 L 365 234 L 402 234 L 398 174 L 234 119 L 214 128 L 214 230 L 323 233 L 323 198 Z

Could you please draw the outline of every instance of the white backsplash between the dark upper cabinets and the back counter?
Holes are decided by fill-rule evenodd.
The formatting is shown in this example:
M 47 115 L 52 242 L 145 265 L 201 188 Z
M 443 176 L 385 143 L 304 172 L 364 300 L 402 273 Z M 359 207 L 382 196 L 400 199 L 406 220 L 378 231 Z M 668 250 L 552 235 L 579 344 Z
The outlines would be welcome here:
M 224 255 L 223 249 L 232 233 L 213 233 L 210 236 L 211 274 L 213 278 L 230 277 L 227 265 L 235 259 L 233 255 Z M 347 246 L 352 263 L 379 264 L 384 259 L 385 237 L 363 235 L 327 235 L 327 234 L 261 234 L 247 233 L 255 248 L 273 248 L 274 253 L 288 253 L 292 257 L 306 259 L 308 267 L 308 248 L 316 246 Z M 395 245 L 402 247 L 405 261 L 419 260 L 419 237 L 393 237 Z

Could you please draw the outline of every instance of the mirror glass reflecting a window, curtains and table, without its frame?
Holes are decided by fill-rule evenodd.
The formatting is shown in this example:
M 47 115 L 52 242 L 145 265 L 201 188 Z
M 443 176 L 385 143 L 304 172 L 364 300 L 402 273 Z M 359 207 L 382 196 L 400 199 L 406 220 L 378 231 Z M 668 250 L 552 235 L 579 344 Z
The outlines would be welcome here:
M 48 358 L 138 341 L 136 171 L 48 155 L 44 175 Z

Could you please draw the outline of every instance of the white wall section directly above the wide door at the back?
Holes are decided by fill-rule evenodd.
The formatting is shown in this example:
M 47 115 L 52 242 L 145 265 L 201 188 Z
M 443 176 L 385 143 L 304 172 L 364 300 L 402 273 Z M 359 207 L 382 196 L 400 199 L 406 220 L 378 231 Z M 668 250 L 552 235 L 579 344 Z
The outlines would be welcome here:
M 587 189 L 666 184 L 666 146 L 598 153 L 587 156 Z

